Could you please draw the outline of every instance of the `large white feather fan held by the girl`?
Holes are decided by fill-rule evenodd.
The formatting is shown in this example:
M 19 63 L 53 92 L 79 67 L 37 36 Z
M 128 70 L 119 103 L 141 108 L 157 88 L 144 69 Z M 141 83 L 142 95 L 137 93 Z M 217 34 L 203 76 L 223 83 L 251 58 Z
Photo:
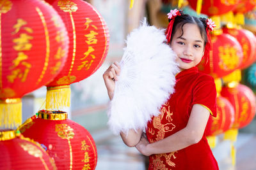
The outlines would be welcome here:
M 114 134 L 143 129 L 173 93 L 179 72 L 175 53 L 166 44 L 164 30 L 143 24 L 127 36 L 121 72 L 108 109 Z

